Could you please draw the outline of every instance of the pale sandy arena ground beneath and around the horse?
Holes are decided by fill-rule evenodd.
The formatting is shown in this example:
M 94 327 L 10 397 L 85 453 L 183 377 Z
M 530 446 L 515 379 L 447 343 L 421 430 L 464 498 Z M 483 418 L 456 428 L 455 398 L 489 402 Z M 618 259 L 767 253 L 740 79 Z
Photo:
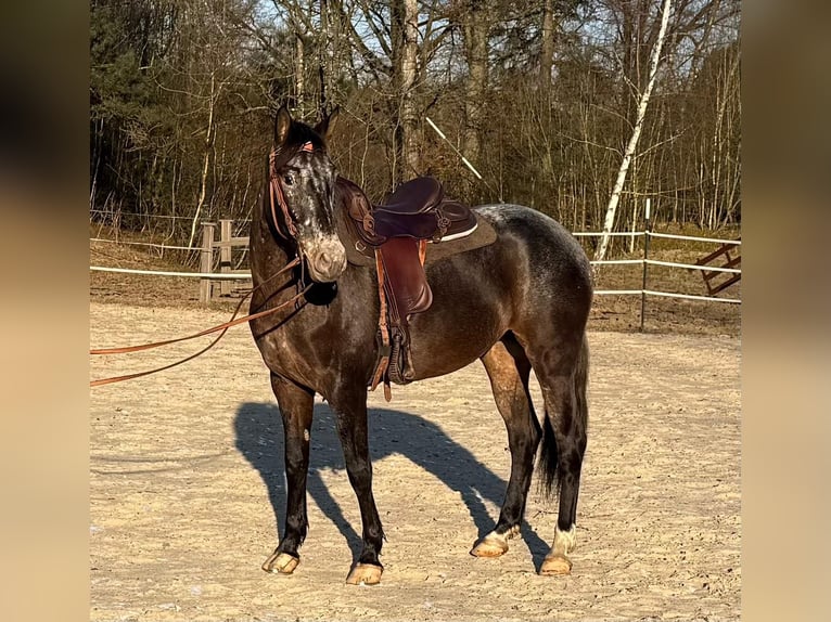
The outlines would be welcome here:
M 157 340 L 226 319 L 93 302 L 90 342 Z M 535 572 L 557 515 L 536 493 L 523 537 L 501 559 L 468 553 L 499 513 L 510 459 L 480 363 L 394 386 L 389 404 L 380 391 L 370 396 L 387 534 L 374 587 L 344 583 L 360 518 L 322 403 L 302 563 L 292 576 L 259 568 L 282 528 L 283 440 L 245 326 L 183 366 L 92 389 L 90 619 L 739 619 L 740 340 L 591 333 L 590 345 L 589 446 L 567 578 Z M 192 341 L 92 358 L 91 377 L 197 349 Z

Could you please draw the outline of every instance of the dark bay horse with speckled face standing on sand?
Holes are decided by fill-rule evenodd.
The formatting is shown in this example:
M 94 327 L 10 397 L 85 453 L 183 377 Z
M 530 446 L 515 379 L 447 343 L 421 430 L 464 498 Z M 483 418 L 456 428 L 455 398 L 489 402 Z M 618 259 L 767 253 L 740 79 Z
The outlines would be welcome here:
M 273 182 L 252 222 L 252 312 L 274 308 L 309 286 L 305 304 L 251 322 L 271 372 L 285 433 L 285 523 L 263 568 L 291 573 L 299 562 L 308 527 L 309 431 L 319 393 L 335 414 L 361 514 L 362 550 L 347 583 L 372 584 L 381 580 L 384 540 L 372 495 L 367 425 L 380 302 L 374 267 L 347 263 L 336 232 L 343 197 L 327 154 L 335 116 L 324 116 L 312 129 L 294 121 L 285 107 L 278 112 Z M 549 494 L 559 492 L 560 509 L 553 545 L 539 572 L 564 574 L 572 568 L 568 553 L 575 544 L 587 439 L 589 262 L 573 236 L 538 211 L 516 205 L 476 211 L 493 224 L 497 241 L 427 265 L 433 304 L 410 320 L 412 359 L 420 362 L 416 379 L 482 360 L 508 428 L 511 476 L 496 526 L 471 553 L 497 557 L 508 550 L 508 540 L 520 531 L 541 441 L 542 483 Z M 276 275 L 297 258 L 302 261 L 293 272 Z M 528 392 L 532 370 L 545 401 L 541 423 Z

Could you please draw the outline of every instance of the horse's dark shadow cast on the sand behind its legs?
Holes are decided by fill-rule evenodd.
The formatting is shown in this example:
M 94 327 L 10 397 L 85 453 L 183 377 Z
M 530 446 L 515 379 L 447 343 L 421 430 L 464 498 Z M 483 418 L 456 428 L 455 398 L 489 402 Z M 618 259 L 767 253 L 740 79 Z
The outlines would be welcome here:
M 369 418 L 373 462 L 392 454 L 408 457 L 460 493 L 480 537 L 494 528 L 494 518 L 488 514 L 483 500 L 501 507 L 507 487 L 502 478 L 480 463 L 438 426 L 418 415 L 388 409 L 370 409 Z M 276 405 L 248 402 L 236 411 L 236 449 L 257 469 L 266 483 L 278 529 L 282 529 L 280 517 L 285 510 L 286 493 L 282 428 L 282 418 Z M 334 415 L 325 404 L 315 404 L 309 453 L 308 494 L 337 527 L 357 559 L 362 544 L 360 533 L 346 520 L 341 506 L 320 476 L 324 469 L 346 468 Z M 523 521 L 521 531 L 534 565 L 539 568 L 548 546 L 526 521 Z

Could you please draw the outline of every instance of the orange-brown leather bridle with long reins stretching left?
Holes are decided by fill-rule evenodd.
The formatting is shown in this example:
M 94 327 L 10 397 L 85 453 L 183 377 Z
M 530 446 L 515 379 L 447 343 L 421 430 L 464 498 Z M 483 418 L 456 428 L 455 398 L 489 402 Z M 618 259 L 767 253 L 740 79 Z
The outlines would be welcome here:
M 298 150 L 301 152 L 308 152 L 312 153 L 315 151 L 315 147 L 312 146 L 311 142 L 304 143 L 301 148 Z M 286 239 L 294 239 L 296 242 L 297 239 L 297 225 L 296 222 L 292 216 L 291 210 L 289 209 L 289 205 L 285 202 L 285 195 L 283 194 L 283 187 L 280 183 L 280 174 L 277 170 L 277 150 L 271 150 L 271 153 L 268 156 L 269 161 L 269 203 L 271 207 L 271 220 L 274 225 L 274 230 L 277 233 L 286 238 Z M 285 226 L 285 232 L 283 232 L 280 229 L 280 220 L 277 218 L 277 208 L 280 208 L 280 211 L 283 213 L 282 222 Z M 219 324 L 218 326 L 213 326 L 210 328 L 206 328 L 205 331 L 200 331 L 199 333 L 195 333 L 193 335 L 188 335 L 186 337 L 178 337 L 176 339 L 166 339 L 164 341 L 155 341 L 153 344 L 142 344 L 139 346 L 127 346 L 122 348 L 100 348 L 100 349 L 93 349 L 90 350 L 89 353 L 91 355 L 97 354 L 126 354 L 130 352 L 140 352 L 142 350 L 151 350 L 153 348 L 161 348 L 162 346 L 169 346 L 170 344 L 178 344 L 180 341 L 187 341 L 189 339 L 195 339 L 196 337 L 204 337 L 205 335 L 212 335 L 214 333 L 219 333 L 219 335 L 210 341 L 205 348 L 196 352 L 195 354 L 191 354 L 190 357 L 187 357 L 184 359 L 181 359 L 179 361 L 176 361 L 175 363 L 170 363 L 168 365 L 164 365 L 162 367 L 156 367 L 154 370 L 149 370 L 144 372 L 137 372 L 135 374 L 127 374 L 124 376 L 114 376 L 111 378 L 100 378 L 98 380 L 90 380 L 89 386 L 90 387 L 99 387 L 102 385 L 110 385 L 113 383 L 120 383 L 123 380 L 130 380 L 133 378 L 140 378 L 142 376 L 148 376 L 150 374 L 155 374 L 156 372 L 162 372 L 164 370 L 169 370 L 170 367 L 175 367 L 177 365 L 181 365 L 182 363 L 186 363 L 188 361 L 191 361 L 195 359 L 196 357 L 200 357 L 207 352 L 210 348 L 217 345 L 217 342 L 225 336 L 225 334 L 228 332 L 228 329 L 231 326 L 236 326 L 238 324 L 242 324 L 244 322 L 251 322 L 253 320 L 257 320 L 259 318 L 265 318 L 266 315 L 271 315 L 272 313 L 277 313 L 278 311 L 285 310 L 293 306 L 294 310 L 297 311 L 306 304 L 306 299 L 304 296 L 308 290 L 311 288 L 311 284 L 304 285 L 304 276 L 301 275 L 301 278 L 298 281 L 298 291 L 294 296 L 292 296 L 289 300 L 285 302 L 278 304 L 277 307 L 272 307 L 271 309 L 266 309 L 265 311 L 258 311 L 256 313 L 251 313 L 248 315 L 245 315 L 243 318 L 236 318 L 236 313 L 239 313 L 240 309 L 242 308 L 243 302 L 252 296 L 255 291 L 257 291 L 260 287 L 268 284 L 270 281 L 276 278 L 277 276 L 280 276 L 281 274 L 284 274 L 289 272 L 290 270 L 301 267 L 301 270 L 303 270 L 303 251 L 298 248 L 297 256 L 290 261 L 286 265 L 284 265 L 280 271 L 272 274 L 268 278 L 266 278 L 263 283 L 257 285 L 256 287 L 253 287 L 248 289 L 245 295 L 242 297 L 240 302 L 236 304 L 236 309 L 234 309 L 233 315 L 231 315 L 231 319 L 228 322 L 225 322 L 223 324 Z M 291 314 L 289 315 L 291 318 Z M 289 319 L 286 318 L 286 320 Z

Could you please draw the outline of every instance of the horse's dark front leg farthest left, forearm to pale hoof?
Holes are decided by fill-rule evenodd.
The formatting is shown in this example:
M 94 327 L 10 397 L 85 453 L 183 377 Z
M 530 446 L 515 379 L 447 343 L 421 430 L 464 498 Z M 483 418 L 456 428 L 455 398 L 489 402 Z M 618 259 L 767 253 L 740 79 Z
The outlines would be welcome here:
M 274 374 L 271 374 L 271 388 L 283 417 L 285 479 L 289 490 L 283 537 L 263 565 L 263 570 L 291 574 L 301 561 L 297 549 L 309 526 L 306 514 L 306 475 L 309 470 L 309 433 L 315 393 Z

